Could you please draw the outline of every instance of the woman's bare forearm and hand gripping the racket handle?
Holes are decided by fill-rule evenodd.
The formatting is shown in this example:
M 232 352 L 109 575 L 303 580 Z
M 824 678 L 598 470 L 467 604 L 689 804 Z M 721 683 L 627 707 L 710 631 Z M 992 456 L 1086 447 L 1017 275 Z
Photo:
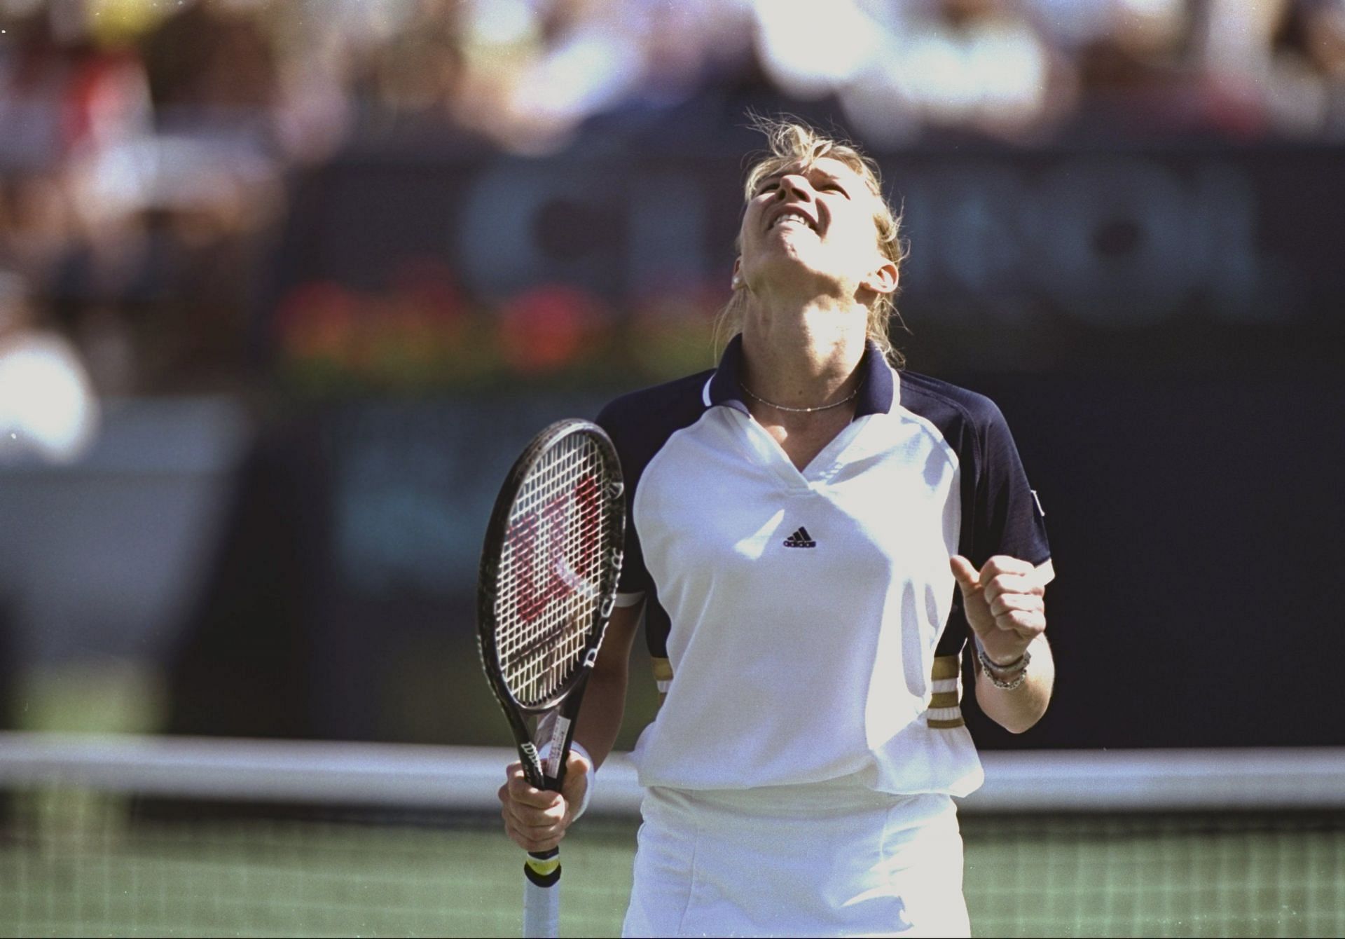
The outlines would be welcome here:
M 521 848 L 545 852 L 561 842 L 574 821 L 574 813 L 584 804 L 593 771 L 612 752 L 625 713 L 631 646 L 643 608 L 644 604 L 639 603 L 612 611 L 603 648 L 584 691 L 574 740 L 588 751 L 593 765 L 572 751 L 565 763 L 565 786 L 560 792 L 533 788 L 519 763 L 511 763 L 504 771 L 506 783 L 499 790 L 500 814 L 504 818 L 504 833 Z

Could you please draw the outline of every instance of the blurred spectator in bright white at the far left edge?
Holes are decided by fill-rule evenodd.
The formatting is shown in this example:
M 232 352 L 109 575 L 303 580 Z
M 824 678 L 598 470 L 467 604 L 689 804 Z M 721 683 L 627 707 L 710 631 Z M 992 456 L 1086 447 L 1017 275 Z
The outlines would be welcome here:
M 38 326 L 23 280 L 0 270 L 0 463 L 71 463 L 97 426 L 98 401 L 74 346 Z

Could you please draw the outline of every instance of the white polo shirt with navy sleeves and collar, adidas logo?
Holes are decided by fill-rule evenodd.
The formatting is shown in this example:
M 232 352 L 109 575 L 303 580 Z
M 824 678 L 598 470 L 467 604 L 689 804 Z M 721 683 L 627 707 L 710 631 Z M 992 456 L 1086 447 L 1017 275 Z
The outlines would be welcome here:
M 647 601 L 667 694 L 640 782 L 972 791 L 948 558 L 1050 557 L 1003 416 L 870 344 L 854 421 L 800 472 L 748 412 L 741 354 L 597 418 L 629 500 L 619 604 Z

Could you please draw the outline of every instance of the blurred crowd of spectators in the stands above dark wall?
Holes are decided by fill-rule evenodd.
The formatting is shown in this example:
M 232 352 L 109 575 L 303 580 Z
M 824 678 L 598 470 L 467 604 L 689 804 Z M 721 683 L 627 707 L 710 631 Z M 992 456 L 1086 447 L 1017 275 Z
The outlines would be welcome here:
M 221 387 L 297 170 L 798 102 L 876 151 L 1340 140 L 1345 0 L 0 0 L 0 358 Z

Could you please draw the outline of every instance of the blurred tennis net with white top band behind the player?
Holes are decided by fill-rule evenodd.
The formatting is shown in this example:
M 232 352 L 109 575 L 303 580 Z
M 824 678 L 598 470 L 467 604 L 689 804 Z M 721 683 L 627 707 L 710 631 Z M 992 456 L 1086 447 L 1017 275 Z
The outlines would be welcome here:
M 504 749 L 0 735 L 3 935 L 518 935 Z M 1345 934 L 1345 751 L 987 753 L 978 935 Z M 615 935 L 639 788 L 565 846 L 566 935 Z

